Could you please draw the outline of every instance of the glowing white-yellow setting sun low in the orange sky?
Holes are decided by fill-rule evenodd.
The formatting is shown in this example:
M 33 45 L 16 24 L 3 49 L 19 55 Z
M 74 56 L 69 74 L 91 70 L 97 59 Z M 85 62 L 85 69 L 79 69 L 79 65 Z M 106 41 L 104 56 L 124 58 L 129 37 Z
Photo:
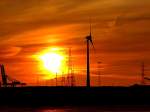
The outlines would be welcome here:
M 39 70 L 42 74 L 47 74 L 46 79 L 55 78 L 67 71 L 66 55 L 61 48 L 48 48 L 34 55 L 39 62 Z

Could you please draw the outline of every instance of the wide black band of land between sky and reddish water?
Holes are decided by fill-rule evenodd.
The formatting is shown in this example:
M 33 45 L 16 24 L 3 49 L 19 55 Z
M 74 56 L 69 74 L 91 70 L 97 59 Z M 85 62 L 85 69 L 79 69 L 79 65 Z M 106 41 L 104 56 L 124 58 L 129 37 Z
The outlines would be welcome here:
M 6 106 L 150 106 L 150 86 L 0 88 L 0 109 Z

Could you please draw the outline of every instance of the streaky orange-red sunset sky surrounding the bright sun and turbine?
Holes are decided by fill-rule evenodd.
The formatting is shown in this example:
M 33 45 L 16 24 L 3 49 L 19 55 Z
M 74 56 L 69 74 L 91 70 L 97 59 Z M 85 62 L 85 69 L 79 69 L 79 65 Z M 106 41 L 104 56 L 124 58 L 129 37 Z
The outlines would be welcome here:
M 150 0 L 0 0 L 0 64 L 10 77 L 42 85 L 54 74 L 38 56 L 59 52 L 62 75 L 71 48 L 76 85 L 84 85 L 90 17 L 92 85 L 98 61 L 102 85 L 140 83 L 143 61 L 150 77 Z

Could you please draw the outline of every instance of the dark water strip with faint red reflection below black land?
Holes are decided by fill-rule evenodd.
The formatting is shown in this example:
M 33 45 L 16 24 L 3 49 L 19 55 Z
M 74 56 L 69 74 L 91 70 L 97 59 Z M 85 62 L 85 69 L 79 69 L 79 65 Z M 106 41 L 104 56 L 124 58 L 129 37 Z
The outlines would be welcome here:
M 144 105 L 65 106 L 65 107 L 1 107 L 0 112 L 150 112 Z

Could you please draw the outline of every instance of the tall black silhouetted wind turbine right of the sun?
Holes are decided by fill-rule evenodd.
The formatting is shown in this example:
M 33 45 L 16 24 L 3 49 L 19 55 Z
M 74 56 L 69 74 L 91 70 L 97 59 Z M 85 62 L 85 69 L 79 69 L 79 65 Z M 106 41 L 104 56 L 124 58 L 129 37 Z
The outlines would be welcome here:
M 94 48 L 94 44 L 92 41 L 92 34 L 91 34 L 91 21 L 90 21 L 90 34 L 86 36 L 87 42 L 87 79 L 86 79 L 86 86 L 90 87 L 90 43 Z

